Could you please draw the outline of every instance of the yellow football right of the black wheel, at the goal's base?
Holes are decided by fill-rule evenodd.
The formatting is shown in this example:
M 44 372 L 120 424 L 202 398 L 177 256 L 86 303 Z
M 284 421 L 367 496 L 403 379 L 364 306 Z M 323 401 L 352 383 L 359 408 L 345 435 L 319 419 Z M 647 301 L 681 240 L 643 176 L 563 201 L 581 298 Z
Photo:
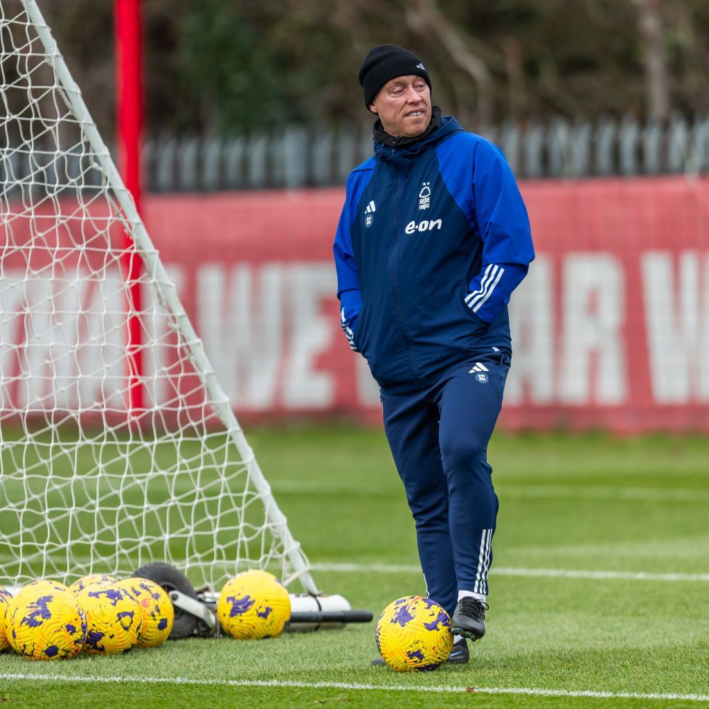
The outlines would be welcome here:
M 233 637 L 276 637 L 291 617 L 291 598 L 268 571 L 244 571 L 222 588 L 217 615 L 224 630 Z

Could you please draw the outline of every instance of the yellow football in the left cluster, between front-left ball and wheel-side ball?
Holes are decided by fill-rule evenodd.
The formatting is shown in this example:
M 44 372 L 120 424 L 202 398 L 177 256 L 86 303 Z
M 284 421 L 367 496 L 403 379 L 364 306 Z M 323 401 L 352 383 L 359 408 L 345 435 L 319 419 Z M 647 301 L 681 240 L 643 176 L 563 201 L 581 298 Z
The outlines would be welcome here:
M 89 627 L 84 652 L 128 652 L 138 642 L 143 611 L 133 596 L 116 584 L 91 584 L 76 596 Z

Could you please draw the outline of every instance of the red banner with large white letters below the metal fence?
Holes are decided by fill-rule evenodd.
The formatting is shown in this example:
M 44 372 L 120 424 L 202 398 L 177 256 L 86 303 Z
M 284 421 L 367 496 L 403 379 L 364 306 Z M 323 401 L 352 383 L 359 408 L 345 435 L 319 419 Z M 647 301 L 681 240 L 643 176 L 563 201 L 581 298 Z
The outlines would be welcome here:
M 501 425 L 708 431 L 709 179 L 520 186 L 537 258 L 510 303 L 514 354 Z M 320 189 L 144 200 L 148 232 L 242 418 L 344 414 L 379 422 L 376 384 L 339 328 L 332 242 L 343 199 L 342 189 Z M 100 218 L 92 215 L 94 223 Z M 21 243 L 21 232 L 29 228 L 30 220 L 13 223 L 6 239 L 11 235 Z M 76 237 L 67 225 L 61 233 L 52 231 L 62 248 Z M 99 303 L 120 299 L 111 278 L 120 285 L 121 274 L 114 269 L 100 284 L 81 286 L 79 271 L 94 269 L 92 259 L 98 256 L 81 257 L 74 269 L 79 285 L 65 289 L 74 300 L 62 295 L 63 304 L 57 306 L 55 299 L 52 306 L 65 318 L 57 325 L 43 310 L 41 298 L 48 296 L 35 278 L 46 264 L 37 262 L 27 277 L 20 254 L 21 249 L 3 255 L 9 286 L 0 303 L 7 345 L 0 351 L 2 401 L 5 406 L 22 399 L 23 406 L 38 410 L 71 406 L 68 398 L 57 403 L 42 389 L 48 377 L 23 376 L 23 362 L 31 359 L 43 367 L 59 351 L 57 341 L 67 345 L 77 336 L 79 320 L 92 332 L 98 325 L 86 317 L 72 319 L 67 303 L 82 287 L 86 297 L 93 288 L 91 297 Z M 65 267 L 73 263 L 65 252 L 62 259 Z M 33 298 L 34 309 L 28 306 Z M 121 307 L 113 310 L 119 313 Z M 13 308 L 17 317 L 6 318 Z M 94 311 L 96 303 L 87 312 Z M 43 345 L 52 341 L 41 335 L 46 328 L 58 328 L 53 355 Z M 81 350 L 86 367 L 91 358 L 106 359 L 106 347 L 118 352 L 122 325 L 116 320 L 112 328 L 103 350 L 94 345 Z M 38 334 L 30 338 L 32 333 Z M 100 393 L 118 410 L 124 363 L 118 355 L 112 361 L 113 379 L 99 381 L 95 389 L 90 377 L 75 374 L 78 388 L 88 387 L 86 401 Z M 169 362 L 164 371 L 170 371 Z M 180 386 L 194 386 L 194 378 Z M 71 391 L 65 387 L 62 396 Z M 160 406 L 156 391 L 150 401 Z

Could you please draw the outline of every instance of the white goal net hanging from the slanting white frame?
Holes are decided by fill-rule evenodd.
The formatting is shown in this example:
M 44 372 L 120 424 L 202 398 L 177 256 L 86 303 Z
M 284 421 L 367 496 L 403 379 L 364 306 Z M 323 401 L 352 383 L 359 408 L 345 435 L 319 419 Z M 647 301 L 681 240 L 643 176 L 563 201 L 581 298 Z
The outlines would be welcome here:
M 34 0 L 0 0 L 0 84 L 0 584 L 164 561 L 315 593 Z

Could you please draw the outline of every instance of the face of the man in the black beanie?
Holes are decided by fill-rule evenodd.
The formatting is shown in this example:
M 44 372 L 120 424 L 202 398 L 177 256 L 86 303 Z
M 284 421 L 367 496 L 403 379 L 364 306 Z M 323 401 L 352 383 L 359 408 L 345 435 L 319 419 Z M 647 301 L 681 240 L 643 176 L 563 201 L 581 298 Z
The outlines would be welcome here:
M 431 91 L 418 76 L 396 77 L 377 91 L 369 110 L 376 113 L 389 135 L 415 138 L 431 120 Z

